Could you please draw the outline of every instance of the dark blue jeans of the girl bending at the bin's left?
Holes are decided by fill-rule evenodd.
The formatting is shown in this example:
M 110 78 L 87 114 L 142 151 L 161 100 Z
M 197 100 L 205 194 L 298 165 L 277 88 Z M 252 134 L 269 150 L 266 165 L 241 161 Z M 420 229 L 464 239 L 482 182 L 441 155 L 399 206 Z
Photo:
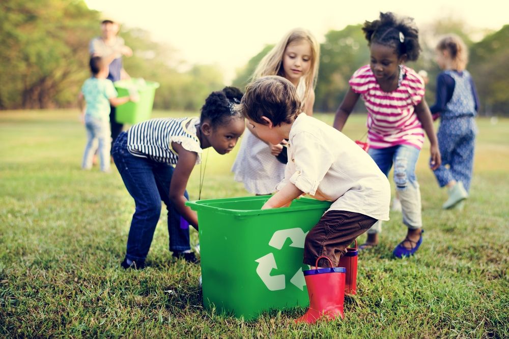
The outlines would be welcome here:
M 161 214 L 161 200 L 168 211 L 169 250 L 190 250 L 189 228 L 181 227 L 181 215 L 169 199 L 169 183 L 174 167 L 133 156 L 127 150 L 127 132 L 118 136 L 112 156 L 136 205 L 127 239 L 126 258 L 134 261 L 147 258 Z M 184 195 L 188 198 L 187 192 Z

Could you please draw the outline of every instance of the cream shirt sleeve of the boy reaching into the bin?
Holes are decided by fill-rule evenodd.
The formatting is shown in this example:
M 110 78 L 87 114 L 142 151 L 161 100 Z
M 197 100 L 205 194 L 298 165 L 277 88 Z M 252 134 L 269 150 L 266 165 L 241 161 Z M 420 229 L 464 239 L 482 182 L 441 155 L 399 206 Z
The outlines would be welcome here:
M 290 141 L 294 151 L 295 171 L 289 181 L 302 192 L 315 195 L 320 182 L 332 165 L 332 153 L 319 138 L 299 132 Z M 289 173 L 290 174 L 290 173 Z

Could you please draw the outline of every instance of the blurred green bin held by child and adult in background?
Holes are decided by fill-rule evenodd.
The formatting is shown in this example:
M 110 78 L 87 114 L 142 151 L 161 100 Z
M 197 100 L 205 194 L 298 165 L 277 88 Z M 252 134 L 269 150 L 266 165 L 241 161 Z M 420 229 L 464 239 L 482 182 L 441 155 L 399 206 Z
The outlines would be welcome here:
M 119 97 L 126 97 L 129 93 L 136 92 L 139 100 L 137 102 L 127 102 L 117 106 L 116 120 L 121 124 L 137 124 L 140 121 L 150 119 L 152 106 L 154 105 L 154 96 L 159 83 L 154 81 L 145 81 L 144 79 L 119 80 L 114 83 Z

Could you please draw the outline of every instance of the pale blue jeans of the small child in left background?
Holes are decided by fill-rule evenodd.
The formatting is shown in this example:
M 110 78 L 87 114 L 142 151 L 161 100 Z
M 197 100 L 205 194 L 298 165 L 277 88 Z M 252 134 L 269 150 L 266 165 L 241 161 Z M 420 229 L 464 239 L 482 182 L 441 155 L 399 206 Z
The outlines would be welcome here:
M 109 170 L 109 148 L 111 147 L 111 133 L 109 131 L 109 122 L 85 115 L 85 128 L 87 129 L 87 145 L 83 152 L 83 161 L 81 168 L 92 168 L 92 158 L 96 151 L 95 140 L 99 141 L 99 160 L 101 161 L 101 171 Z

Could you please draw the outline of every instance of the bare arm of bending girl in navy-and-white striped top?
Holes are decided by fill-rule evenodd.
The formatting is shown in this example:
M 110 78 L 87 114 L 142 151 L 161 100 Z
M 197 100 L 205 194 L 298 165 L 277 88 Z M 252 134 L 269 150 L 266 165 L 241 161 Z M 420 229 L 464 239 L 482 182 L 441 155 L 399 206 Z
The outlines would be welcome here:
M 197 155 L 196 152 L 189 151 L 176 142 L 172 143 L 172 147 L 178 153 L 179 161 L 169 184 L 169 199 L 179 214 L 195 229 L 198 229 L 198 216 L 195 211 L 185 205 L 187 199 L 184 196 L 187 181 L 196 164 Z

